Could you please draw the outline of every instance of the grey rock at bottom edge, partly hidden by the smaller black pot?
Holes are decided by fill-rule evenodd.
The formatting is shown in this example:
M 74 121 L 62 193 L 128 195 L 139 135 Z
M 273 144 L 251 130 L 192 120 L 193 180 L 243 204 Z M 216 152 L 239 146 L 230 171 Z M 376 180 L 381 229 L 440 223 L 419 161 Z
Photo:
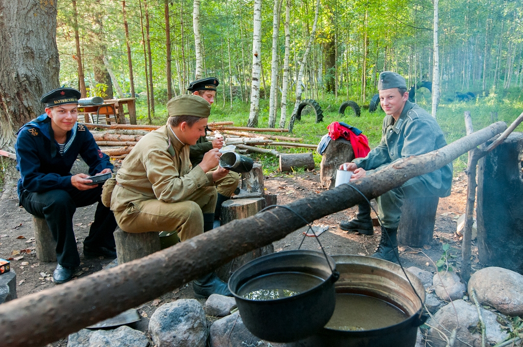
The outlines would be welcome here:
M 209 330 L 211 347 L 284 347 L 285 344 L 266 342 L 258 339 L 243 325 L 240 313 L 236 311 L 230 316 L 212 323 Z

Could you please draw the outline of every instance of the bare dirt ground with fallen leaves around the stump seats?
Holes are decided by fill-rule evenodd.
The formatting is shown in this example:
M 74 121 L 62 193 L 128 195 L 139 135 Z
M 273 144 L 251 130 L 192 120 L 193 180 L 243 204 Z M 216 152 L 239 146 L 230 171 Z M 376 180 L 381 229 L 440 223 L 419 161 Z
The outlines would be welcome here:
M 86 172 L 85 164 L 78 161 L 75 172 Z M 0 197 L 0 258 L 12 258 L 12 269 L 17 275 L 18 297 L 50 288 L 52 272 L 56 262 L 44 263 L 38 261 L 35 252 L 34 233 L 32 231 L 32 216 L 23 207 L 18 206 L 16 193 L 16 180 L 11 179 L 6 183 L 5 190 Z M 301 175 L 275 175 L 265 177 L 267 193 L 278 195 L 278 204 L 288 204 L 294 200 L 317 194 L 324 189 L 320 184 L 319 172 L 306 172 Z M 405 268 L 416 266 L 420 269 L 435 271 L 433 261 L 442 255 L 441 245 L 448 243 L 451 254 L 457 256 L 457 269 L 461 263 L 461 241 L 456 234 L 457 218 L 465 212 L 465 196 L 467 182 L 464 175 L 460 175 L 452 182 L 452 193 L 447 198 L 439 200 L 434 239 L 430 245 L 423 248 L 410 248 L 400 245 L 400 256 Z M 81 254 L 81 269 L 78 269 L 73 280 L 102 270 L 111 262 L 103 257 L 89 259 L 83 256 L 82 242 L 88 235 L 89 225 L 93 222 L 95 205 L 82 207 L 76 210 L 73 224 L 77 238 L 78 251 Z M 352 218 L 356 207 L 344 210 L 315 221 L 314 225 L 328 225 L 329 228 L 320 236 L 320 241 L 329 255 L 370 255 L 376 247 L 380 228 L 375 228 L 373 236 L 347 233 L 338 227 L 343 219 Z M 296 230 L 287 237 L 274 242 L 275 251 L 298 249 L 303 239 L 306 228 Z M 317 250 L 319 246 L 313 237 L 306 237 L 302 248 Z M 477 247 L 473 246 L 473 268 L 480 267 L 477 260 Z M 474 271 L 474 269 L 473 269 Z M 171 302 L 178 298 L 193 298 L 192 285 L 189 283 L 173 292 L 138 307 L 144 319 L 134 328 L 146 330 L 148 317 L 161 304 Z M 204 300 L 201 300 L 203 303 Z M 53 343 L 53 346 L 65 346 L 67 339 Z

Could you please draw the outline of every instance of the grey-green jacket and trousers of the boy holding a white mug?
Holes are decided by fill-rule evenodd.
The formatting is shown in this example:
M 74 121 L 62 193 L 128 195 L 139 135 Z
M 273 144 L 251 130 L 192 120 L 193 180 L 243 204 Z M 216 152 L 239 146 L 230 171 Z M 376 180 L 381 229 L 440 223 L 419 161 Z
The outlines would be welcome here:
M 407 100 L 397 121 L 392 115 L 386 115 L 383 119 L 380 144 L 365 158 L 354 159 L 353 163 L 370 174 L 401 158 L 425 154 L 446 145 L 445 136 L 436 120 L 427 111 Z M 422 196 L 442 198 L 450 195 L 451 183 L 452 163 L 449 163 L 379 196 L 376 200 L 383 226 L 397 228 L 403 199 Z

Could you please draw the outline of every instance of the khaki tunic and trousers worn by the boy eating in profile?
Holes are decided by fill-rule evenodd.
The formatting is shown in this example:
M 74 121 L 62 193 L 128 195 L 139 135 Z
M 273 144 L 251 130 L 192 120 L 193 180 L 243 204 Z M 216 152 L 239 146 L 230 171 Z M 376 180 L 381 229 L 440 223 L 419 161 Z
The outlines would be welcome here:
M 203 214 L 214 213 L 212 172 L 192 168 L 189 145 L 166 125 L 134 146 L 116 181 L 111 210 L 128 233 L 176 230 L 183 241 L 203 233 Z

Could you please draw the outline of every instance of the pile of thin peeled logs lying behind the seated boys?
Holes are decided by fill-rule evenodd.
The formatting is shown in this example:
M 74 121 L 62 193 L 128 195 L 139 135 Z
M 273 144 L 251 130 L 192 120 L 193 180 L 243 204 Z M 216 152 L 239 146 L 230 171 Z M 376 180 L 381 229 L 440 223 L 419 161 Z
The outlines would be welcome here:
M 280 153 L 270 147 L 299 147 L 315 149 L 315 144 L 305 144 L 303 138 L 281 135 L 260 134 L 260 132 L 288 132 L 288 129 L 248 128 L 233 126 L 233 122 L 211 122 L 208 128 L 208 139 L 212 141 L 214 135 L 220 133 L 225 145 L 235 145 L 240 153 L 261 153 L 279 157 Z M 160 128 L 158 125 L 131 125 L 131 124 L 91 124 L 84 123 L 88 129 L 102 129 L 94 131 L 93 136 L 101 151 L 111 158 L 123 159 L 134 145 L 150 131 Z M 260 148 L 265 147 L 265 148 Z M 268 148 L 269 147 L 269 148 Z

